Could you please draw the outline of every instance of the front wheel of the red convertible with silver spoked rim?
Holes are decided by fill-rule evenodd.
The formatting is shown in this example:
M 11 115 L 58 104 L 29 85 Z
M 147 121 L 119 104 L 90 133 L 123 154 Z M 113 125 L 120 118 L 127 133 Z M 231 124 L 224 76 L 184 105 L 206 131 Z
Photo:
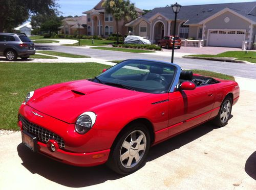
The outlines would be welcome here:
M 131 174 L 142 166 L 150 149 L 150 133 L 146 126 L 135 123 L 119 135 L 106 165 L 118 174 Z

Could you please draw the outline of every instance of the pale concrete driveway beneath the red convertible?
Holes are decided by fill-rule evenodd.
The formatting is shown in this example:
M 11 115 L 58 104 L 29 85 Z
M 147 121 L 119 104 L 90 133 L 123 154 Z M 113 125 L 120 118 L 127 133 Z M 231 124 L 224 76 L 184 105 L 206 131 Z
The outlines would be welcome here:
M 255 189 L 256 80 L 236 80 L 241 97 L 228 125 L 206 123 L 152 147 L 145 166 L 128 176 L 104 165 L 64 165 L 30 152 L 19 132 L 3 135 L 0 189 Z

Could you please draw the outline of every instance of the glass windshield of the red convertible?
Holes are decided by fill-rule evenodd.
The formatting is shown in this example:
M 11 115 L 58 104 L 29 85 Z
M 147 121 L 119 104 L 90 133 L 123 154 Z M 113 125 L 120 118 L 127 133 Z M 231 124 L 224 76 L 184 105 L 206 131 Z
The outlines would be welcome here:
M 91 79 L 118 88 L 146 93 L 166 93 L 173 83 L 174 65 L 143 60 L 127 60 Z

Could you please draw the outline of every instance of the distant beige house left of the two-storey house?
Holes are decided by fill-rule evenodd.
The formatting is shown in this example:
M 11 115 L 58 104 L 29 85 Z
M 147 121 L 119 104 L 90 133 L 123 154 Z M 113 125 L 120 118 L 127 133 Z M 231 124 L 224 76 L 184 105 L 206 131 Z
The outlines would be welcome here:
M 59 34 L 74 35 L 78 34 L 78 23 L 80 23 L 80 34 L 87 34 L 87 16 L 68 17 L 62 20 L 62 26 L 60 26 Z

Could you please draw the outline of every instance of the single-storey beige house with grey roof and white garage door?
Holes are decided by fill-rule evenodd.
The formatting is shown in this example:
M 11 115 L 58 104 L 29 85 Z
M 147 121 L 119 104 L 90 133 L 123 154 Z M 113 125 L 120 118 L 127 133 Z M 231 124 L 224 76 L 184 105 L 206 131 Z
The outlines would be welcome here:
M 174 33 L 172 7 L 155 8 L 127 23 L 134 34 L 157 43 Z M 205 46 L 252 49 L 256 35 L 256 2 L 183 6 L 178 13 L 176 35 L 203 40 Z

